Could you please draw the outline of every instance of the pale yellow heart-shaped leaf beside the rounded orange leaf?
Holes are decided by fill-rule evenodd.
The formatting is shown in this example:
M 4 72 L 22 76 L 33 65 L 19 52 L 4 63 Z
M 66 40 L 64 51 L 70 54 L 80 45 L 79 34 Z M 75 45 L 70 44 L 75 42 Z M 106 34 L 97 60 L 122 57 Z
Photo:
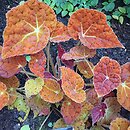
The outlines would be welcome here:
M 25 94 L 29 98 L 32 95 L 37 95 L 44 86 L 44 80 L 41 78 L 29 79 L 25 83 Z

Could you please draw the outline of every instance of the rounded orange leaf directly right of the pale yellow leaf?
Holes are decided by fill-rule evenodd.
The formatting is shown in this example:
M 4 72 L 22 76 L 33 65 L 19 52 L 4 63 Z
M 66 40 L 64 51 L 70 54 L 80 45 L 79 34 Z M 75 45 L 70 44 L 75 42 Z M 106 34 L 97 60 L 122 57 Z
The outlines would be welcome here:
M 50 103 L 56 103 L 63 99 L 60 84 L 54 79 L 44 79 L 44 86 L 40 91 L 41 98 Z

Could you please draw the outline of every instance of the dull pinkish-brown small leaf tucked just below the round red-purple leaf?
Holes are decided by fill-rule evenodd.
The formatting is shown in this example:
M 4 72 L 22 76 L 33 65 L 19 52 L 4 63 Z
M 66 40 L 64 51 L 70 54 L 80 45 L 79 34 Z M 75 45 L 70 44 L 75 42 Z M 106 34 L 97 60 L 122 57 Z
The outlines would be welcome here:
M 96 106 L 99 104 L 99 98 L 98 95 L 95 91 L 95 89 L 90 89 L 87 93 L 86 93 L 86 101 L 91 103 L 93 106 Z

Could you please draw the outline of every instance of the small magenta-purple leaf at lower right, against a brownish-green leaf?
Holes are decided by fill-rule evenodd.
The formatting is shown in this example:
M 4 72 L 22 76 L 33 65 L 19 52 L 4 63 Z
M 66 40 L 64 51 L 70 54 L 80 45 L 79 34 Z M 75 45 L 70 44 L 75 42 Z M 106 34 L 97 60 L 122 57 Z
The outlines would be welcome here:
M 100 103 L 98 106 L 95 106 L 92 110 L 92 123 L 93 125 L 101 119 L 106 110 L 107 106 L 105 103 Z

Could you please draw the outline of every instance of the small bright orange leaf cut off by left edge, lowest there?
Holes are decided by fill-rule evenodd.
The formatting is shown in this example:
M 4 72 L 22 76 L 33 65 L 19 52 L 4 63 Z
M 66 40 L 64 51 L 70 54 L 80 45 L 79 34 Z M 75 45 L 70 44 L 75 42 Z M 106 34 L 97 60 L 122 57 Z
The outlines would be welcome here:
M 7 93 L 6 85 L 0 82 L 0 110 L 8 104 L 9 94 Z

